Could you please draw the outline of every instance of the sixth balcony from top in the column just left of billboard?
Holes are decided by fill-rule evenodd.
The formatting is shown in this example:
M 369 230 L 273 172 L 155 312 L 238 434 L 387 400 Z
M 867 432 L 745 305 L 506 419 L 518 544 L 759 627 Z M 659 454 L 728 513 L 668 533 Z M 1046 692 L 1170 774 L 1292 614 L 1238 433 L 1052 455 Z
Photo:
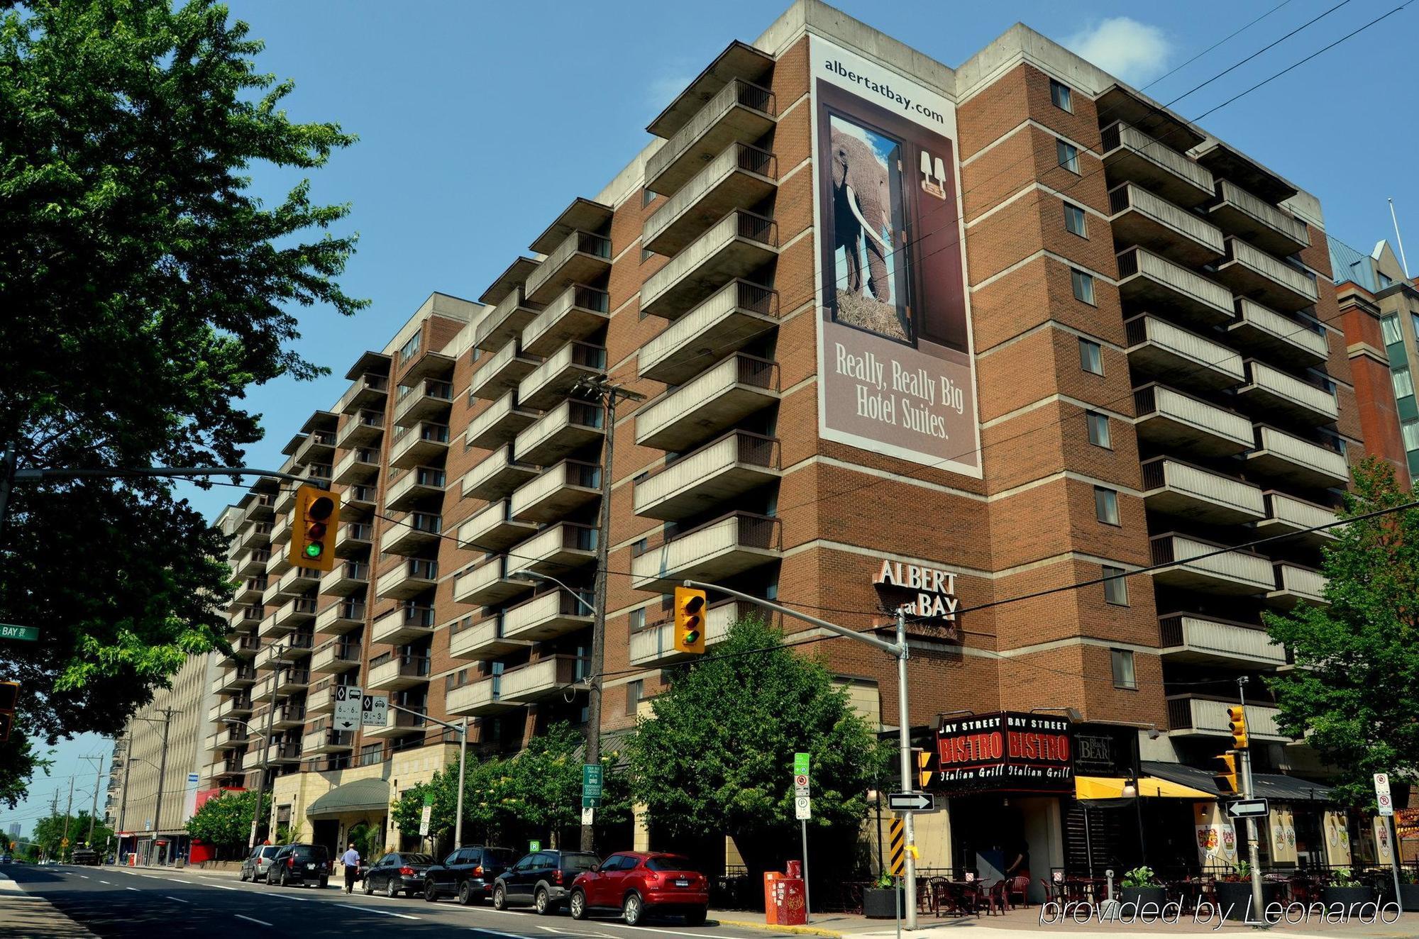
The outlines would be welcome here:
M 779 477 L 778 440 L 729 431 L 636 482 L 636 515 L 671 522 L 702 515 Z

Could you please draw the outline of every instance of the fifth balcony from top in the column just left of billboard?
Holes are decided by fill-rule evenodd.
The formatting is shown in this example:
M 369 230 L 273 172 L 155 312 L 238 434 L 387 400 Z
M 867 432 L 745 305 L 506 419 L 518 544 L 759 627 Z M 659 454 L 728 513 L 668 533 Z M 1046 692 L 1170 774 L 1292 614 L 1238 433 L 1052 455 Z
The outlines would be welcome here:
M 684 452 L 779 400 L 778 363 L 735 353 L 636 413 L 636 443 Z

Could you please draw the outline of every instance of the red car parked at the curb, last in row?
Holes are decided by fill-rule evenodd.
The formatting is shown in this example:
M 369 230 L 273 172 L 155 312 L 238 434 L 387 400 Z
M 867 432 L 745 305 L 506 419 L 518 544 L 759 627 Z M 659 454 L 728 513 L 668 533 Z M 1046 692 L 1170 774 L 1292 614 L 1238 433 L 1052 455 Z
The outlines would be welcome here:
M 681 915 L 700 926 L 710 909 L 710 882 L 678 854 L 619 851 L 595 871 L 572 881 L 568 899 L 572 919 L 586 919 L 593 909 L 619 909 L 627 926 L 657 913 Z

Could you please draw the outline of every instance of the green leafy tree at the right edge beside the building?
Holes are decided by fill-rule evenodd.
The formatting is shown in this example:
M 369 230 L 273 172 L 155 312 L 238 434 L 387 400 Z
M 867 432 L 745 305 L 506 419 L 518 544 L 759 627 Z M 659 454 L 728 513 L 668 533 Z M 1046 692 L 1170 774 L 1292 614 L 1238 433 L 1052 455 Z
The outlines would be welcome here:
M 1388 462 L 1354 469 L 1344 518 L 1413 499 Z M 1419 509 L 1399 509 L 1335 530 L 1323 570 L 1327 606 L 1267 613 L 1271 638 L 1297 668 L 1269 679 L 1281 730 L 1305 736 L 1335 767 L 1337 796 L 1374 803 L 1371 776 L 1419 772 Z

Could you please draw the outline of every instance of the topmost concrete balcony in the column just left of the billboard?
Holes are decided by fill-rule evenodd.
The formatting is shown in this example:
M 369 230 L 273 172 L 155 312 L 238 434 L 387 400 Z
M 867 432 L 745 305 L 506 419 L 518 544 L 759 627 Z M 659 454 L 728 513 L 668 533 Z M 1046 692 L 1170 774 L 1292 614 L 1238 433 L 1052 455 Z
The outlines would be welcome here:
M 646 189 L 673 196 L 731 143 L 752 143 L 773 126 L 768 88 L 732 79 L 646 160 Z

